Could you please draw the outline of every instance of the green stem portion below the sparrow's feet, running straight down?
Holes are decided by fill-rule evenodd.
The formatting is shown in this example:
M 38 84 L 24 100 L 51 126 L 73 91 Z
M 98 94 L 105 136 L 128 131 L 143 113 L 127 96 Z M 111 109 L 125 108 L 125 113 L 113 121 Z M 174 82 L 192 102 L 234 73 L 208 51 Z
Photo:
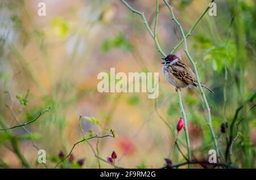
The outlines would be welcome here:
M 177 96 L 178 96 L 178 104 L 180 106 L 180 111 L 182 114 L 182 118 L 184 121 L 184 131 L 185 131 L 185 138 L 187 143 L 187 150 L 188 150 L 188 161 L 191 162 L 191 148 L 190 148 L 190 142 L 189 142 L 189 136 L 188 136 L 188 123 L 187 123 L 187 115 L 184 111 L 182 100 L 181 100 L 181 92 L 180 88 L 177 89 Z M 191 164 L 188 164 L 188 168 L 191 168 Z

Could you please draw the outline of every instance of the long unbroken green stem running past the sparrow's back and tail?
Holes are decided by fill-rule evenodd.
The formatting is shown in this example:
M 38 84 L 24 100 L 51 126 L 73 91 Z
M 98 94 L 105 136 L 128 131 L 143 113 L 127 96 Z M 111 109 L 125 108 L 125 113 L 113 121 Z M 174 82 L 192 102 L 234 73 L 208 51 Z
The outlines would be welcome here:
M 187 40 L 186 40 L 186 37 L 185 37 L 185 34 L 184 34 L 184 31 L 183 31 L 183 28 L 181 27 L 181 24 L 176 20 L 175 16 L 174 16 L 174 12 L 172 11 L 172 7 L 168 4 L 168 2 L 166 0 L 163 0 L 164 3 L 166 3 L 166 6 L 169 8 L 170 10 L 170 13 L 171 13 L 171 16 L 172 16 L 172 20 L 174 20 L 175 24 L 177 25 L 177 27 L 179 27 L 180 29 L 180 33 L 183 37 L 183 48 L 184 48 L 184 52 L 185 54 L 187 55 L 189 61 L 191 62 L 191 65 L 193 66 L 193 70 L 195 71 L 195 75 L 196 75 L 196 81 L 197 81 L 197 84 L 199 86 L 199 90 L 201 92 L 201 95 L 203 96 L 203 101 L 204 101 L 204 104 L 205 104 L 205 107 L 206 107 L 206 110 L 207 110 L 207 123 L 208 123 L 208 126 L 210 128 L 210 134 L 212 135 L 212 139 L 213 139 L 213 143 L 214 143 L 214 148 L 216 150 L 216 155 L 217 155 L 217 162 L 218 162 L 218 158 L 220 157 L 219 156 L 219 152 L 218 152 L 218 142 L 217 142 L 217 139 L 216 139 L 216 136 L 215 136 L 215 133 L 214 133 L 214 130 L 213 130 L 213 126 L 212 126 L 212 119 L 211 119 L 211 116 L 210 116 L 210 107 L 208 105 L 208 101 L 207 101 L 207 98 L 205 96 L 205 93 L 204 93 L 204 90 L 203 90 L 203 87 L 201 86 L 201 82 L 200 82 L 200 78 L 199 78 L 199 74 L 197 72 L 197 68 L 196 68 L 196 64 L 195 62 L 193 61 L 191 55 L 189 54 L 188 52 L 188 46 L 187 46 Z

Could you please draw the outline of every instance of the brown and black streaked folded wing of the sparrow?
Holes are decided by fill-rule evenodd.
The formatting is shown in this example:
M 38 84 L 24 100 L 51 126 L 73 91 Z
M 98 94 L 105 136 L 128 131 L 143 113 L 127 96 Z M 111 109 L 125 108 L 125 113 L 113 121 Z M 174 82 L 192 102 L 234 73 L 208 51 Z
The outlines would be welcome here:
M 192 84 L 196 86 L 196 82 L 194 82 L 192 76 L 187 72 L 188 68 L 184 63 L 177 62 L 175 65 L 171 66 L 172 74 L 180 80 L 182 80 L 186 84 Z

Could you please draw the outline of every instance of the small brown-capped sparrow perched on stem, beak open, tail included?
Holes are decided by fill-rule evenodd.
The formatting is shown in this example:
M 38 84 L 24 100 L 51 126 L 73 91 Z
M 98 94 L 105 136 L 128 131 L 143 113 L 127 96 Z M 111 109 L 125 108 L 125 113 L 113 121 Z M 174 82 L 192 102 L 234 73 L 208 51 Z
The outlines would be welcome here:
M 196 81 L 195 73 L 181 62 L 181 59 L 174 54 L 167 55 L 166 58 L 162 58 L 165 62 L 162 62 L 163 67 L 162 71 L 166 80 L 176 87 L 176 91 L 178 88 L 185 88 L 189 85 L 194 85 L 197 87 L 198 83 Z M 210 92 L 213 93 L 206 85 L 201 83 L 202 87 L 206 88 Z

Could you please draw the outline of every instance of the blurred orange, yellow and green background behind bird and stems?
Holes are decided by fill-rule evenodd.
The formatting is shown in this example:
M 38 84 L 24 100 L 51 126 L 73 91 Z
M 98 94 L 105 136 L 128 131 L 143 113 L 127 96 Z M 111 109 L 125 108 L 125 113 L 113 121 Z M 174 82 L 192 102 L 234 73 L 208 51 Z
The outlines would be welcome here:
M 38 15 L 39 2 L 46 3 L 46 16 Z M 154 27 L 155 1 L 127 2 L 143 11 Z M 187 33 L 210 1 L 169 2 Z M 188 37 L 188 48 L 201 81 L 214 91 L 206 95 L 212 107 L 221 160 L 225 162 L 230 130 L 222 133 L 221 123 L 228 121 L 230 125 L 237 108 L 256 91 L 256 9 L 253 0 L 215 2 L 217 16 L 204 16 Z M 158 38 L 168 54 L 180 41 L 180 35 L 163 1 L 159 6 Z M 181 47 L 176 54 L 187 61 Z M 164 79 L 160 58 L 142 19 L 120 1 L 1 0 L 1 126 L 15 126 L 16 120 L 25 123 L 49 106 L 51 110 L 26 126 L 31 134 L 22 128 L 0 131 L 0 166 L 27 168 L 22 164 L 22 158 L 26 158 L 32 168 L 45 168 L 37 163 L 38 150 L 32 138 L 36 147 L 46 151 L 48 167 L 54 167 L 60 161 L 59 153 L 67 155 L 73 144 L 82 139 L 80 114 L 86 136 L 110 134 L 110 129 L 117 134 L 116 138 L 90 142 L 105 160 L 115 151 L 118 166 L 160 168 L 167 157 L 173 163 L 184 162 L 174 148 L 176 123 L 181 117 L 177 95 Z M 159 72 L 159 97 L 154 100 L 148 99 L 147 93 L 99 93 L 97 75 L 109 73 L 110 67 L 126 74 Z M 208 151 L 214 147 L 200 92 L 192 88 L 181 93 L 193 157 L 207 160 Z M 238 114 L 238 120 L 244 119 L 238 128 L 240 137 L 233 145 L 232 163 L 240 168 L 255 168 L 256 111 L 249 111 L 254 104 L 248 102 Z M 181 151 L 186 154 L 183 131 L 179 139 Z M 59 167 L 99 167 L 87 143 L 77 145 L 72 153 L 75 160 L 65 160 Z M 84 164 L 77 165 L 76 161 L 82 158 Z M 100 165 L 112 168 L 103 161 Z

